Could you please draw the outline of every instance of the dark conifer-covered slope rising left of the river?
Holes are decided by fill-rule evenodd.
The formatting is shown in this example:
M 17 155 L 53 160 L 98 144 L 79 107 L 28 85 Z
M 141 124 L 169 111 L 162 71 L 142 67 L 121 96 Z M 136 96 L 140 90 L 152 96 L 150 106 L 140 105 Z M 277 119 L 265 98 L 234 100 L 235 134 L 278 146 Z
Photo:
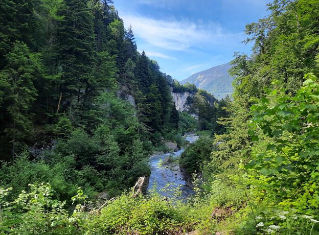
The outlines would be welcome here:
M 50 182 L 118 195 L 178 132 L 166 75 L 137 51 L 111 1 L 4 1 L 0 7 L 1 185 Z

